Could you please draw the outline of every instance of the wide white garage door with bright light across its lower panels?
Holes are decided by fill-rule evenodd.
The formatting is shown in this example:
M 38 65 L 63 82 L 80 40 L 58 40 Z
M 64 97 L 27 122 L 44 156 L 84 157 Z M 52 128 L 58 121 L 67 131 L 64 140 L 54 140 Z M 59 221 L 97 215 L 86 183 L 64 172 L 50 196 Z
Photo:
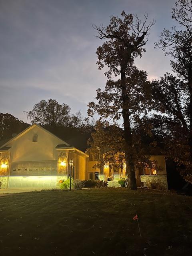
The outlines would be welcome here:
M 57 161 L 13 162 L 9 188 L 56 188 Z

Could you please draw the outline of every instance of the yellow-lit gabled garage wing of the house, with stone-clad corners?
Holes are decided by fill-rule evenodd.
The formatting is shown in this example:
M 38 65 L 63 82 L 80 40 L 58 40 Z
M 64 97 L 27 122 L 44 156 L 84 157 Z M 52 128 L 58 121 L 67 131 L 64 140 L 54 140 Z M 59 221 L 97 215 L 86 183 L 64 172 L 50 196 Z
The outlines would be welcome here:
M 58 188 L 69 175 L 85 179 L 87 154 L 37 124 L 0 146 L 1 188 Z

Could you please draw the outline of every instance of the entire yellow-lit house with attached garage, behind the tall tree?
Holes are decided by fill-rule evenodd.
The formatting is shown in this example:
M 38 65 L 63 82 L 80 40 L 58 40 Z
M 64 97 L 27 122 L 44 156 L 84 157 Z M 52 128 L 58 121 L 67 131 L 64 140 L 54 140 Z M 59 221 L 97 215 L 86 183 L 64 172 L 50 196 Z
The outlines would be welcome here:
M 78 138 L 77 138 L 78 140 Z M 72 141 L 72 140 L 71 140 Z M 79 147 L 80 148 L 80 147 Z M 69 161 L 73 160 L 74 179 L 118 180 L 125 177 L 125 169 L 112 169 L 108 165 L 101 171 L 95 168 L 97 159 L 71 146 L 38 124 L 32 124 L 11 139 L 0 142 L 0 188 L 59 188 L 60 181 L 70 175 Z M 167 188 L 164 156 L 151 156 L 161 171 L 148 166 L 136 170 L 138 186 L 150 177 L 161 178 Z

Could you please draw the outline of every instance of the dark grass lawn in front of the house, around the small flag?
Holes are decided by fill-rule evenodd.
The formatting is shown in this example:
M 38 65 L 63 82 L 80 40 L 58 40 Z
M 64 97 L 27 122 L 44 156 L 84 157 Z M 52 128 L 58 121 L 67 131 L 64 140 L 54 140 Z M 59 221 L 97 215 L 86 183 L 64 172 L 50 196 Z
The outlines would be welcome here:
M 0 197 L 2 256 L 184 254 L 192 255 L 192 197 L 125 188 Z

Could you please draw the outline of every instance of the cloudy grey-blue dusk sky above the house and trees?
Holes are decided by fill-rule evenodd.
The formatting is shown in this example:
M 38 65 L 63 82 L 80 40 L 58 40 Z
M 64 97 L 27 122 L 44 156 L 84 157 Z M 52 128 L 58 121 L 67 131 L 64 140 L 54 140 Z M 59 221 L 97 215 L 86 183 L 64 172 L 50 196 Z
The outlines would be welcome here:
M 159 78 L 170 71 L 170 58 L 154 49 L 163 28 L 170 28 L 175 0 L 0 0 L 0 112 L 26 121 L 42 99 L 66 103 L 86 116 L 96 89 L 105 86 L 104 71 L 96 65 L 92 23 L 109 24 L 109 16 L 138 14 L 156 20 L 146 53 L 136 66 Z

